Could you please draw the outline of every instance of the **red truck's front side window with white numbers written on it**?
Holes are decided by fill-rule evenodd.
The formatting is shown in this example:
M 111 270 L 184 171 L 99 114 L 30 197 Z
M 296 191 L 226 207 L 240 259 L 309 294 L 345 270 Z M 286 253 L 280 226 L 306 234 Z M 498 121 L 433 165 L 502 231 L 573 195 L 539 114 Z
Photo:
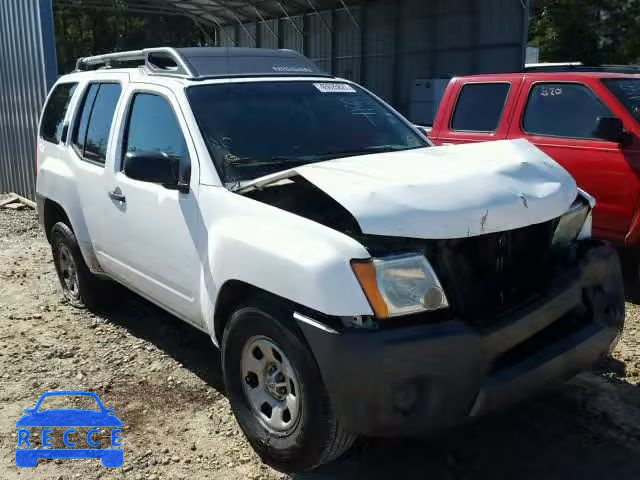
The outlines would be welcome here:
M 539 83 L 529 94 L 522 129 L 530 135 L 595 139 L 598 117 L 611 115 L 584 85 Z

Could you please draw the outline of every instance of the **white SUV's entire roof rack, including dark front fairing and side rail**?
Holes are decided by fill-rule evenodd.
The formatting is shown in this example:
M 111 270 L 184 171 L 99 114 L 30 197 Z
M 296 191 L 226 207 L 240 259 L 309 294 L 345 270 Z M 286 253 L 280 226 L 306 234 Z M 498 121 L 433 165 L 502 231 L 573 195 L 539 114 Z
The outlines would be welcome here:
M 191 80 L 246 76 L 330 77 L 312 60 L 293 50 L 238 47 L 145 48 L 79 58 L 76 71 L 143 67 L 149 75 Z

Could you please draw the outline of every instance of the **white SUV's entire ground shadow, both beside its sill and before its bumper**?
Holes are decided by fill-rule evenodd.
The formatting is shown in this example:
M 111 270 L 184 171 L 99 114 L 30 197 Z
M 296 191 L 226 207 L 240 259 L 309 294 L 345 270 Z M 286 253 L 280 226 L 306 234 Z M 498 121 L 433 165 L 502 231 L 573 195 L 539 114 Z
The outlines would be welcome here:
M 209 337 L 119 288 L 118 306 L 100 312 L 163 350 L 224 393 L 219 354 Z M 154 327 L 149 328 L 150 324 Z M 598 377 L 640 405 L 640 389 L 616 380 L 624 365 L 602 366 Z M 624 383 L 624 385 L 616 385 Z M 428 439 L 361 439 L 344 457 L 293 480 L 333 479 L 603 479 L 637 480 L 640 455 L 603 431 L 615 429 L 602 413 L 585 407 L 602 387 L 574 382 L 514 408 Z M 636 439 L 637 440 L 637 439 Z M 628 442 L 626 442 L 628 443 Z

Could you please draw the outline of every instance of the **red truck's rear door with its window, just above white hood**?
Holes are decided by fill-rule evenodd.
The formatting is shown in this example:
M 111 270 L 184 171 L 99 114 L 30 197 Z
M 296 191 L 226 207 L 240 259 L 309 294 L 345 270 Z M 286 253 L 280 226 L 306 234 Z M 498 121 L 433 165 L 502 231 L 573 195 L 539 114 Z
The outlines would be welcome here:
M 479 77 L 452 83 L 449 115 L 439 125 L 438 145 L 502 140 L 509 131 L 509 119 L 518 89 L 519 77 Z

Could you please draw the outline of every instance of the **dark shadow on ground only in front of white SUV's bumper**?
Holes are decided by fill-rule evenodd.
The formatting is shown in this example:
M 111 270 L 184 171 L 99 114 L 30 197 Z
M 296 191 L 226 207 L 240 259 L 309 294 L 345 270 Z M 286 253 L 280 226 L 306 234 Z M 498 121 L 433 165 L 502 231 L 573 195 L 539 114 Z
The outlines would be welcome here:
M 585 421 L 578 390 L 559 387 L 431 439 L 362 440 L 337 462 L 293 479 L 640 478 L 637 450 L 594 432 L 607 419 Z

